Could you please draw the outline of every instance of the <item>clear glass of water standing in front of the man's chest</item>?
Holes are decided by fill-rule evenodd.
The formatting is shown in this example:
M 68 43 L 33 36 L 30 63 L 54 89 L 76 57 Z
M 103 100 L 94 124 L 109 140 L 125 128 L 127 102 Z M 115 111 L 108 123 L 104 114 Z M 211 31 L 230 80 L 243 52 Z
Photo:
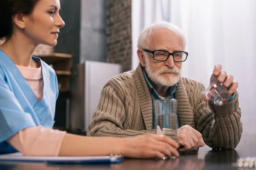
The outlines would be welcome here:
M 156 133 L 169 136 L 177 142 L 177 100 L 155 100 L 154 113 Z

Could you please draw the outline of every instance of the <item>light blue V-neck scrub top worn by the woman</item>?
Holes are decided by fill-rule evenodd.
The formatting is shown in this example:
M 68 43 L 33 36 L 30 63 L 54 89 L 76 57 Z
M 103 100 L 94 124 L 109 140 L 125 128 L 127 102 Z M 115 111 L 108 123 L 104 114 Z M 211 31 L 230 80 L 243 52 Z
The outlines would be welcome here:
M 26 79 L 0 50 L 0 154 L 17 152 L 6 141 L 27 127 L 52 128 L 58 82 L 55 71 L 40 58 L 44 79 L 43 98 L 37 101 Z

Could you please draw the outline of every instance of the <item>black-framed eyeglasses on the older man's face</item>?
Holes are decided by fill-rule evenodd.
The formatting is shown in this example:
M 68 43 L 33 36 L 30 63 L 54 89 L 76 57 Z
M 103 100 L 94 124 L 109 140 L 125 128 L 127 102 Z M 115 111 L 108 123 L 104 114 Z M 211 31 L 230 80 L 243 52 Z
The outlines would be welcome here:
M 173 60 L 175 62 L 184 62 L 189 55 L 185 51 L 175 51 L 174 53 L 169 53 L 168 51 L 163 51 L 163 50 L 150 51 L 145 48 L 143 48 L 143 50 L 153 54 L 154 60 L 157 60 L 157 61 L 166 61 L 170 57 L 170 55 L 172 55 Z

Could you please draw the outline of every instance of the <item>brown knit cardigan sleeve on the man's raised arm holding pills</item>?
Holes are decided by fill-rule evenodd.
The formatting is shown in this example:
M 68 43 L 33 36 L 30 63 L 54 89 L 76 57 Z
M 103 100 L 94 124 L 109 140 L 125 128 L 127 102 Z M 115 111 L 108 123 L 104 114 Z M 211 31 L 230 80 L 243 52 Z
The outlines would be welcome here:
M 240 121 L 238 92 L 232 101 L 216 106 L 205 102 L 198 82 L 191 84 L 195 89 L 194 117 L 196 130 L 202 133 L 204 142 L 213 149 L 234 149 L 241 139 L 242 123 Z

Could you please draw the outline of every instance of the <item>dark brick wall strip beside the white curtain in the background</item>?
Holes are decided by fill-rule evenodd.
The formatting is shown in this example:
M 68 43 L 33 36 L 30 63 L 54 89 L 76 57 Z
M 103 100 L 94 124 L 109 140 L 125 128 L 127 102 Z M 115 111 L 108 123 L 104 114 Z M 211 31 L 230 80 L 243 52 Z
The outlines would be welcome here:
M 107 62 L 131 70 L 131 0 L 107 2 Z

